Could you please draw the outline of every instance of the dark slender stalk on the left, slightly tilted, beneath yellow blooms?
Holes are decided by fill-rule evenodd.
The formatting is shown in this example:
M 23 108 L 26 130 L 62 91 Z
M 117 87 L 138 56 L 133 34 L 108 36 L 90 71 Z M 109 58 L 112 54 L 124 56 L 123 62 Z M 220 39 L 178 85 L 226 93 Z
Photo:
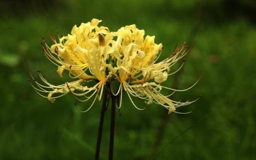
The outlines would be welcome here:
M 100 157 L 101 136 L 102 136 L 105 111 L 106 111 L 106 108 L 108 105 L 108 101 L 109 101 L 109 99 L 107 98 L 107 90 L 104 89 L 104 97 L 103 97 L 103 102 L 102 102 L 102 107 L 101 107 L 98 138 L 97 138 L 96 151 L 95 151 L 95 160 L 99 160 L 99 157 Z

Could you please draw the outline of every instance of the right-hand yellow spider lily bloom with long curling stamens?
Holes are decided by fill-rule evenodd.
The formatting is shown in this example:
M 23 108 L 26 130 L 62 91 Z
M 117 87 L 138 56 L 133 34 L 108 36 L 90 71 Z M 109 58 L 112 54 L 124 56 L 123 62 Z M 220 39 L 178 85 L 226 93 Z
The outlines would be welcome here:
M 174 73 L 169 73 L 170 68 L 188 53 L 186 43 L 182 44 L 170 57 L 156 63 L 162 44 L 154 42 L 155 36 L 147 35 L 144 39 L 144 30 L 137 29 L 135 25 L 122 27 L 114 35 L 117 36 L 117 41 L 113 43 L 113 56 L 117 59 L 117 63 L 116 66 L 109 67 L 109 70 L 115 73 L 116 79 L 120 82 L 118 92 L 113 93 L 114 95 L 120 94 L 122 100 L 124 89 L 137 109 L 144 108 L 137 107 L 131 96 L 144 99 L 147 104 L 154 102 L 162 105 L 169 110 L 168 113 L 177 112 L 175 111 L 177 107 L 196 101 L 176 102 L 168 99 L 170 95 L 163 96 L 160 93 L 162 88 L 173 92 L 191 88 L 178 90 L 160 85 L 161 82 L 167 80 L 169 75 L 181 68 Z M 121 101 L 119 107 L 121 107 Z

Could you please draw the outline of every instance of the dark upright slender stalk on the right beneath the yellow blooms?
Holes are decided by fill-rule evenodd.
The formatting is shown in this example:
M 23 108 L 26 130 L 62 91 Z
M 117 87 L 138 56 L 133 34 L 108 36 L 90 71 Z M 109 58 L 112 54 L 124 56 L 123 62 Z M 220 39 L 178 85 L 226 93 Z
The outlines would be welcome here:
M 115 115 L 116 115 L 116 98 L 115 96 L 112 95 L 111 124 L 110 124 L 109 152 L 108 152 L 109 160 L 113 160 L 113 153 L 114 153 Z

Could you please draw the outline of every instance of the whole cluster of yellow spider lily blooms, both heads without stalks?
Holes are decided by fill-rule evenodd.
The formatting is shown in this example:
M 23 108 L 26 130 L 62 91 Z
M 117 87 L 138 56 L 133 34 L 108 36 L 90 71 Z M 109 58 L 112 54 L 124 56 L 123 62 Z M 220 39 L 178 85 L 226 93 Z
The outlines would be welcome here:
M 171 72 L 172 66 L 184 58 L 189 52 L 186 43 L 175 50 L 167 59 L 157 62 L 163 49 L 162 44 L 154 42 L 155 36 L 144 36 L 144 30 L 139 30 L 135 25 L 125 26 L 116 32 L 111 32 L 107 27 L 98 26 L 101 20 L 92 19 L 86 24 L 72 28 L 71 34 L 67 36 L 52 37 L 53 44 L 47 45 L 42 42 L 43 52 L 46 57 L 58 66 L 58 74 L 62 77 L 66 70 L 75 81 L 66 82 L 61 85 L 50 84 L 45 77 L 39 73 L 43 83 L 36 81 L 32 75 L 35 91 L 41 96 L 53 102 L 56 98 L 71 93 L 79 101 L 87 101 L 94 98 L 101 100 L 103 90 L 108 84 L 109 92 L 120 97 L 118 107 L 121 107 L 123 92 L 127 93 L 132 104 L 137 109 L 133 97 L 145 100 L 145 103 L 157 103 L 171 112 L 177 112 L 176 108 L 193 103 L 196 100 L 185 102 L 169 99 L 174 92 L 183 90 L 162 86 L 168 76 L 175 74 L 178 70 Z M 95 81 L 94 86 L 86 85 L 89 81 Z M 113 81 L 118 82 L 117 91 L 113 89 Z M 172 90 L 171 95 L 161 94 L 162 89 Z M 85 111 L 87 111 L 85 110 Z M 180 112 L 177 112 L 180 113 Z

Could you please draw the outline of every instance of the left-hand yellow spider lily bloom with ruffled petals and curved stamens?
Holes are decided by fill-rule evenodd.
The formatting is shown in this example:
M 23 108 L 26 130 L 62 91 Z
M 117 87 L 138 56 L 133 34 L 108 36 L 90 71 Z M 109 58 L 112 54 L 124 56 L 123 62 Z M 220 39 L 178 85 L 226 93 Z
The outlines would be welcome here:
M 42 85 L 35 81 L 38 87 L 34 87 L 37 92 L 47 93 L 46 97 L 51 102 L 69 92 L 74 96 L 82 96 L 87 101 L 93 96 L 95 100 L 100 100 L 107 79 L 111 75 L 106 75 L 106 59 L 112 48 L 113 33 L 107 27 L 98 27 L 101 20 L 93 19 L 86 24 L 82 23 L 79 27 L 72 28 L 71 34 L 56 38 L 51 37 L 53 45 L 48 47 L 47 43 L 42 43 L 43 51 L 47 58 L 58 66 L 58 74 L 62 77 L 63 71 L 67 70 L 69 76 L 79 79 L 74 82 L 66 82 L 62 85 L 52 85 L 39 73 L 40 78 L 45 83 Z M 96 80 L 93 87 L 84 86 L 86 81 Z M 75 92 L 77 91 L 77 92 Z M 54 96 L 58 94 L 58 96 Z M 95 102 L 94 100 L 94 102 Z

